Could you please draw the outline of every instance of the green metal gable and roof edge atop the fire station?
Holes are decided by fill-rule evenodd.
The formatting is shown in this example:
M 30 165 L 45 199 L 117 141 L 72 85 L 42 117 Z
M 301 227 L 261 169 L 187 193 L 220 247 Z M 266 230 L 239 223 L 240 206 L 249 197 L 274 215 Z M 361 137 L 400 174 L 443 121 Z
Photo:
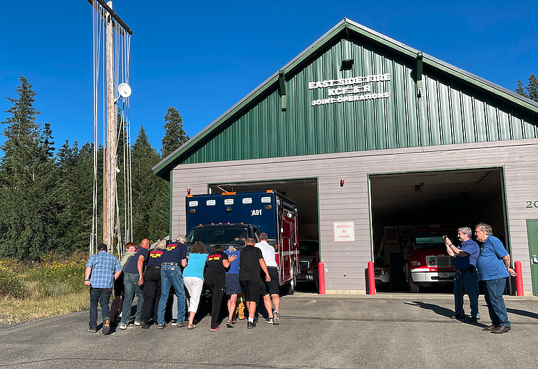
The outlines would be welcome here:
M 342 60 L 353 59 L 341 71 Z M 308 83 L 390 74 L 389 98 L 311 106 Z M 420 88 L 419 88 L 420 87 Z M 343 19 L 154 166 L 538 137 L 538 104 Z

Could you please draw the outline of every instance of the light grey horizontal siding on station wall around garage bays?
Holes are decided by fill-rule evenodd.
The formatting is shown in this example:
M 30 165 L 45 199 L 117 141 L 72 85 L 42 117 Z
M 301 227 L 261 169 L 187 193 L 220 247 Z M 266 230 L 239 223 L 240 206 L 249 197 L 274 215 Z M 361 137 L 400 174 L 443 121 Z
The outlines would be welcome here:
M 440 119 L 437 122 L 441 125 Z M 483 128 L 487 130 L 486 123 Z M 512 258 L 521 261 L 524 289 L 532 291 L 525 219 L 537 218 L 538 210 L 526 209 L 525 201 L 538 199 L 538 186 L 532 178 L 538 167 L 537 139 L 181 164 L 172 171 L 172 237 L 186 232 L 187 187 L 192 188 L 193 194 L 206 194 L 207 184 L 214 182 L 318 177 L 320 248 L 327 268 L 326 288 L 329 292 L 360 293 L 365 290 L 364 269 L 371 260 L 368 173 L 483 166 L 504 167 Z M 339 186 L 341 177 L 345 177 L 344 187 Z M 356 241 L 334 242 L 335 221 L 354 221 Z

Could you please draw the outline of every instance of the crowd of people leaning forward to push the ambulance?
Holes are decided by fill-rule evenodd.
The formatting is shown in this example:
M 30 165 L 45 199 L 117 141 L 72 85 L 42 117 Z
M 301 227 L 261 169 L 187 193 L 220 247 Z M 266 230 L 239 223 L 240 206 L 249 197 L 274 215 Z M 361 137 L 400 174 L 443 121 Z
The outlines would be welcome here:
M 127 243 L 127 252 L 122 262 L 107 253 L 104 243 L 98 246 L 97 254 L 86 263 L 85 284 L 90 286 L 89 332 L 97 332 L 97 304 L 101 304 L 103 334 L 110 332 L 115 315 L 122 307 L 118 329 L 135 326 L 149 328 L 154 307 L 153 320 L 159 329 L 167 326 L 165 311 L 170 289 L 174 288 L 171 325 L 188 326 L 195 329 L 195 314 L 199 307 L 204 282 L 213 295 L 211 307 L 211 332 L 218 331 L 222 298 L 228 295 L 227 327 L 236 324 L 236 301 L 241 291 L 245 294 L 248 311 L 247 329 L 256 327 L 254 314 L 260 293 L 268 312 L 268 323 L 279 325 L 279 274 L 275 259 L 275 248 L 270 246 L 268 235 L 261 233 L 260 242 L 245 240 L 245 248 L 239 252 L 234 246 L 223 250 L 215 246 L 207 252 L 204 243 L 198 241 L 187 255 L 186 237 L 177 237 L 169 242 L 159 239 L 149 250 L 149 240 L 144 239 L 138 247 Z M 111 308 L 112 286 L 115 300 Z M 185 289 L 188 291 L 188 308 Z M 138 297 L 134 323 L 131 322 L 131 303 L 134 294 Z M 188 309 L 188 318 L 186 310 Z

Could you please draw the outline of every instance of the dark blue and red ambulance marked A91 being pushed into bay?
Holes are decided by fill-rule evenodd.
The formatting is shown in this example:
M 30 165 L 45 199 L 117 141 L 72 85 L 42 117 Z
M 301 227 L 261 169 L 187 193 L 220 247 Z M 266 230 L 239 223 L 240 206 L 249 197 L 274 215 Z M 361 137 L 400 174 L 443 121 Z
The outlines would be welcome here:
M 293 294 L 300 273 L 299 223 L 297 205 L 277 191 L 224 192 L 187 195 L 187 248 L 202 241 L 207 250 L 220 245 L 227 250 L 245 247 L 245 240 L 259 242 L 259 234 L 268 234 L 275 248 L 279 283 L 283 293 Z

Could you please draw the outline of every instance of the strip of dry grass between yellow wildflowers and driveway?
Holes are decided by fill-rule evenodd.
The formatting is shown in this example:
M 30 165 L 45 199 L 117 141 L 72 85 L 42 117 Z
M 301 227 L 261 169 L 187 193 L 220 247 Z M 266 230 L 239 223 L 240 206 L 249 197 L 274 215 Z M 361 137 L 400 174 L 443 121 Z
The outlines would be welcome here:
M 90 307 L 90 293 L 79 291 L 43 299 L 0 300 L 0 324 L 14 324 L 28 320 L 49 318 L 82 311 Z

